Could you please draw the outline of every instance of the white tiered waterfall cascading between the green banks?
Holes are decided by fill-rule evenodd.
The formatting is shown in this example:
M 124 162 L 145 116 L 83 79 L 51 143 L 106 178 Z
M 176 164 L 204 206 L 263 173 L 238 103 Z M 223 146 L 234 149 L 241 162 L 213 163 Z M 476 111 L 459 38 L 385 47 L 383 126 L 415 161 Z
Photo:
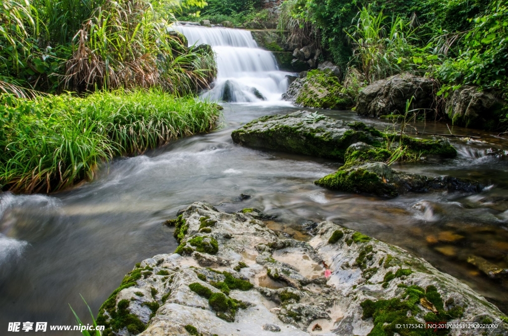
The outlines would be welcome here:
M 281 100 L 288 88 L 287 75 L 280 71 L 272 52 L 259 48 L 250 31 L 223 27 L 177 24 L 189 46 L 208 44 L 216 53 L 217 79 L 202 97 L 226 102 Z

